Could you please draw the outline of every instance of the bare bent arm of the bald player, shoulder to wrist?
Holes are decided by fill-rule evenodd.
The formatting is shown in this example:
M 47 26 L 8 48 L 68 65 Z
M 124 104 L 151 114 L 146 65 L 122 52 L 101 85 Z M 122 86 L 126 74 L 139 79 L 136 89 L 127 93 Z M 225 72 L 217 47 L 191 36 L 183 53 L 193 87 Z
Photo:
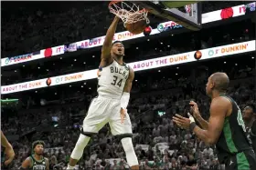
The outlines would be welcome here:
M 225 117 L 228 113 L 228 108 L 228 99 L 221 97 L 213 100 L 210 105 L 208 129 L 203 130 L 198 126 L 194 128 L 193 132 L 207 145 L 214 145 L 219 140 L 219 135 L 222 132 Z

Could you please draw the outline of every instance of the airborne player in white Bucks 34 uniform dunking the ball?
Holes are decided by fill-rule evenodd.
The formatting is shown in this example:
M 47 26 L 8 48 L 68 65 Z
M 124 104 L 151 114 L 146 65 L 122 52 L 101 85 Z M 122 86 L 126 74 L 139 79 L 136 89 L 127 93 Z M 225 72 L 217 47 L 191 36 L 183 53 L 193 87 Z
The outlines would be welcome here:
M 91 135 L 110 124 L 112 135 L 119 136 L 127 163 L 133 170 L 139 169 L 132 143 L 132 125 L 126 107 L 130 99 L 134 73 L 123 63 L 124 46 L 121 42 L 112 44 L 113 35 L 119 22 L 115 16 L 107 31 L 101 48 L 101 64 L 98 70 L 98 97 L 91 100 L 84 118 L 81 134 L 69 159 L 68 170 L 73 170 L 80 160 Z

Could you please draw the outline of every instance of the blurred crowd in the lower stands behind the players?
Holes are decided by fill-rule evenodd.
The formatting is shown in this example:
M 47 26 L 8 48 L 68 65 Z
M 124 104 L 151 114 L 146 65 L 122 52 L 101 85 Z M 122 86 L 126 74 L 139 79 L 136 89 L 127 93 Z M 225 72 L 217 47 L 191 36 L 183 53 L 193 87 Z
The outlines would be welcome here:
M 208 119 L 210 101 L 204 89 L 205 81 L 212 71 L 198 72 L 197 81 L 193 81 L 192 76 L 180 77 L 178 80 L 155 77 L 153 83 L 133 86 L 128 110 L 133 124 L 133 145 L 142 170 L 190 170 L 198 167 L 200 170 L 225 169 L 219 165 L 214 146 L 205 145 L 189 131 L 177 128 L 172 121 L 172 115 L 187 113 L 190 99 L 197 101 L 201 115 Z M 256 93 L 251 81 L 255 77 L 253 72 L 251 70 L 251 75 L 245 75 L 248 74 L 246 69 L 240 69 L 233 76 L 230 75 L 229 95 L 241 109 L 246 104 L 255 105 Z M 80 135 L 80 125 L 92 96 L 70 91 L 59 98 L 59 103 L 50 104 L 48 101 L 48 105 L 44 105 L 41 101 L 41 106 L 37 107 L 33 107 L 35 101 L 31 99 L 29 105 L 22 105 L 27 109 L 22 109 L 18 118 L 11 115 L 2 118 L 5 134 L 19 135 L 19 140 L 12 143 L 16 150 L 12 169 L 21 165 L 31 152 L 31 142 L 37 139 L 46 143 L 45 156 L 49 158 L 50 167 L 65 168 Z M 78 165 L 80 169 L 95 170 L 128 167 L 123 146 L 111 135 L 109 125 L 105 125 L 99 135 L 91 138 Z

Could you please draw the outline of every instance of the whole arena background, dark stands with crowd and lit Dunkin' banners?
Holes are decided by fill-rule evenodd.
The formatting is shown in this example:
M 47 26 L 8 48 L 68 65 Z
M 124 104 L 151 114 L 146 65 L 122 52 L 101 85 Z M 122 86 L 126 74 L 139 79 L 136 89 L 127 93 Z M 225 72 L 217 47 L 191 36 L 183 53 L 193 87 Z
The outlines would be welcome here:
M 97 95 L 96 69 L 113 18 L 107 5 L 2 2 L 1 129 L 16 151 L 13 164 L 3 168 L 17 169 L 37 139 L 47 144 L 50 169 L 67 165 Z M 124 60 L 135 71 L 128 110 L 142 169 L 176 164 L 182 170 L 225 169 L 214 146 L 178 129 L 171 118 L 186 113 L 190 99 L 208 118 L 205 84 L 217 71 L 229 75 L 229 95 L 240 108 L 255 105 L 253 15 L 255 2 L 202 2 L 203 28 L 198 32 L 153 15 L 151 27 L 141 35 L 128 33 L 120 23 L 114 37 L 123 41 Z M 86 147 L 78 168 L 127 168 L 123 147 L 108 125 Z

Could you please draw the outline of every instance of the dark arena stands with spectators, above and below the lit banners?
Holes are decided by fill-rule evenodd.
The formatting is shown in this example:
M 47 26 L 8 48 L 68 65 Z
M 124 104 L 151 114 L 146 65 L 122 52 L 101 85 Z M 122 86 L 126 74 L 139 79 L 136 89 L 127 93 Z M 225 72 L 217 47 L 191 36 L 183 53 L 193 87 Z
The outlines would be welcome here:
M 21 8 L 20 12 L 23 15 L 20 17 L 16 17 L 18 12 L 17 15 L 10 15 L 10 18 L 6 20 L 9 22 L 6 22 L 2 28 L 4 57 L 26 54 L 47 46 L 80 41 L 91 38 L 92 35 L 93 37 L 104 35 L 112 16 L 107 10 L 102 10 L 99 14 L 96 12 L 106 8 L 107 3 L 102 3 L 104 7 L 95 7 L 92 4 L 90 9 L 89 6 L 84 9 L 75 2 L 73 3 L 75 5 L 72 9 L 69 9 L 69 4 L 67 4 L 66 7 L 63 6 L 62 11 L 56 10 L 54 13 L 53 9 L 44 12 L 39 10 L 36 15 L 32 16 L 30 14 L 35 11 Z M 240 3 L 204 2 L 203 5 L 205 5 L 203 9 L 208 12 L 220 7 L 240 5 Z M 8 14 L 8 11 L 5 13 Z M 28 15 L 30 17 L 27 17 Z M 48 18 L 48 23 L 42 23 L 40 18 Z M 85 23 L 88 24 L 85 25 Z M 101 23 L 101 26 L 98 23 Z M 131 45 L 128 55 L 132 57 L 127 58 L 127 62 L 255 39 L 255 35 L 248 35 L 244 32 L 247 23 L 243 24 L 238 23 L 237 29 L 232 31 L 229 31 L 228 27 L 231 28 L 234 25 L 225 25 L 227 29 L 219 26 L 216 32 L 213 31 L 216 27 L 202 30 L 202 41 L 199 42 L 199 46 L 195 46 L 198 37 L 195 33 L 183 35 L 183 40 L 189 44 L 186 46 L 184 46 L 184 41 L 183 43 L 177 41 L 182 35 L 164 37 L 161 41 L 150 41 L 147 45 L 152 46 L 152 51 L 144 49 L 144 42 Z M 33 31 L 27 31 L 32 27 Z M 35 27 L 37 29 L 34 29 Z M 165 47 L 162 46 L 162 42 Z M 166 45 L 171 45 L 171 48 Z M 137 50 L 137 47 L 140 50 Z M 78 62 L 79 64 L 74 64 L 69 69 L 67 68 L 73 61 L 73 57 L 65 60 L 58 58 L 58 61 L 48 61 L 44 64 L 34 63 L 25 67 L 18 65 L 6 69 L 2 73 L 1 85 L 96 68 L 99 62 L 99 51 L 87 52 L 86 55 L 96 57 L 91 60 L 91 57 L 84 59 L 84 55 L 79 55 L 76 57 L 77 60 L 85 61 L 86 65 Z M 49 72 L 46 72 L 46 69 Z M 208 119 L 210 101 L 205 95 L 205 84 L 208 75 L 216 71 L 228 73 L 231 80 L 229 95 L 237 101 L 240 108 L 246 104 L 256 105 L 256 72 L 253 54 L 232 55 L 232 57 L 200 64 L 177 65 L 135 74 L 128 111 L 133 123 L 133 145 L 141 170 L 174 170 L 173 165 L 178 166 L 176 170 L 225 169 L 224 165 L 219 165 L 214 146 L 205 145 L 195 135 L 177 128 L 172 121 L 173 115 L 186 114 L 190 99 L 197 101 L 201 114 Z M 19 98 L 18 104 L 8 104 L 1 108 L 1 129 L 12 141 L 16 152 L 14 163 L 8 169 L 18 169 L 27 155 L 31 153 L 32 141 L 37 139 L 44 140 L 46 143 L 45 156 L 49 159 L 50 169 L 65 169 L 69 162 L 69 155 L 80 135 L 80 125 L 91 98 L 96 95 L 96 83 L 95 80 L 88 80 L 72 85 L 58 85 L 58 87 L 2 96 L 2 98 Z M 81 170 L 129 169 L 125 162 L 123 147 L 118 139 L 111 135 L 108 125 L 101 129 L 99 135 L 93 136 L 78 168 Z

